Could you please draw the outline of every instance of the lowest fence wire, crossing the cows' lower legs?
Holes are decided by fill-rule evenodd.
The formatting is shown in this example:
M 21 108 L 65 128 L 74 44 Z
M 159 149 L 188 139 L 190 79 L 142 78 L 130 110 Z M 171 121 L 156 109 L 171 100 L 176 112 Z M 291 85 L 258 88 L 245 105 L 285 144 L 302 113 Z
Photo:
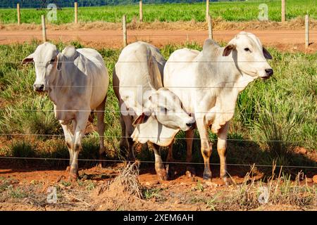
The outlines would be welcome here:
M 64 160 L 69 161 L 66 158 L 35 158 L 35 157 L 11 157 L 11 156 L 0 156 L 0 159 L 4 160 Z M 78 161 L 85 162 L 135 162 L 130 160 L 97 160 L 97 159 L 77 159 Z M 137 162 L 141 163 L 155 163 L 155 161 L 149 160 L 137 160 Z M 181 165 L 204 165 L 204 162 L 162 162 L 164 164 L 181 164 Z M 209 165 L 220 165 L 220 163 L 212 163 Z M 316 169 L 317 167 L 309 167 L 309 166 L 297 166 L 297 165 L 256 165 L 256 164 L 235 164 L 235 163 L 227 163 L 228 166 L 237 166 L 237 167 L 285 167 L 285 168 L 304 168 L 304 169 Z

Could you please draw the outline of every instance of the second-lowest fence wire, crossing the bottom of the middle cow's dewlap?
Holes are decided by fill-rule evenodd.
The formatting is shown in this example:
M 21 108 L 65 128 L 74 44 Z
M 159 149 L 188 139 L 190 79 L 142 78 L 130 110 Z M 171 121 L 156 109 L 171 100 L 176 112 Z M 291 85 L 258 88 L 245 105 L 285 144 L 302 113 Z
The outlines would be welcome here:
M 8 134 L 8 133 L 0 133 L 0 136 L 51 136 L 51 137 L 64 137 L 64 134 Z M 82 137 L 94 137 L 92 135 L 82 135 Z M 95 136 L 95 138 L 102 137 L 102 138 L 124 138 L 124 139 L 130 139 L 130 136 L 108 136 L 108 135 L 98 135 Z M 140 139 L 156 139 L 156 136 L 142 136 L 139 137 Z M 160 137 L 160 139 L 170 139 L 170 137 Z M 176 137 L 175 139 L 179 140 L 201 140 L 200 138 L 181 138 L 181 137 Z M 211 141 L 217 141 L 218 139 L 211 139 L 209 138 L 208 140 Z M 242 140 L 242 139 L 227 139 L 227 141 L 247 141 L 247 142 L 256 142 L 256 141 L 266 141 L 266 142 L 276 142 L 276 143 L 297 143 L 299 141 L 283 141 L 283 140 Z

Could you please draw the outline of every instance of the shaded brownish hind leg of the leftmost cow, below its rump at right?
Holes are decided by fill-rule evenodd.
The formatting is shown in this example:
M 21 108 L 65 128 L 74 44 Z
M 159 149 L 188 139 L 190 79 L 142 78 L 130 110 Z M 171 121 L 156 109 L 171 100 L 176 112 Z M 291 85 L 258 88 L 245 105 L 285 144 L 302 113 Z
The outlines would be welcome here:
M 106 148 L 104 148 L 104 109 L 106 105 L 106 98 L 104 101 L 96 108 L 97 110 L 97 129 L 99 134 L 99 160 L 104 160 L 104 155 L 106 155 Z M 99 167 L 102 167 L 102 162 L 99 162 Z

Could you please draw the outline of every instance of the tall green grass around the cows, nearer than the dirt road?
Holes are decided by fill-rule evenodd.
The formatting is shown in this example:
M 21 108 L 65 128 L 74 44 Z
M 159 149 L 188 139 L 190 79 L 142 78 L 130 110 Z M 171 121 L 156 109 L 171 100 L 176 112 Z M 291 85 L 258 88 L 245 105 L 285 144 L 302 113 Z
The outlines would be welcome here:
M 35 81 L 33 66 L 20 64 L 25 56 L 35 50 L 37 44 L 34 41 L 32 44 L 0 46 L 0 133 L 1 138 L 13 140 L 12 145 L 3 147 L 0 153 L 18 157 L 68 158 L 63 137 L 27 136 L 23 138 L 3 135 L 63 134 L 51 111 L 53 109 L 51 101 L 45 95 L 39 95 L 32 90 L 32 84 Z M 71 44 L 77 47 L 82 46 L 77 42 Z M 67 44 L 56 43 L 56 45 L 58 49 L 63 49 Z M 187 43 L 164 46 L 161 52 L 165 58 L 168 58 L 175 49 L 182 47 L 201 50 L 198 44 Z M 111 75 L 120 50 L 98 50 L 104 57 L 109 75 Z M 295 154 L 294 147 L 302 146 L 310 151 L 317 148 L 317 53 L 306 55 L 282 53 L 276 49 L 269 49 L 269 51 L 273 56 L 270 64 L 274 69 L 274 75 L 266 81 L 257 80 L 240 94 L 228 134 L 228 139 L 234 139 L 228 141 L 228 163 L 272 165 L 275 160 L 277 165 L 316 166 L 316 162 L 309 160 L 306 156 Z M 112 79 L 112 76 L 110 77 Z M 110 83 L 105 114 L 105 136 L 107 136 L 105 144 L 108 158 L 118 159 L 120 154 L 118 136 L 121 135 L 119 109 L 113 93 L 112 80 Z M 83 139 L 80 158 L 98 158 L 97 136 L 94 132 Z M 216 139 L 214 134 L 210 133 L 209 136 L 211 139 Z M 177 137 L 179 139 L 173 146 L 174 158 L 185 161 L 184 132 L 180 132 Z M 199 138 L 198 132 L 195 137 Z M 213 142 L 216 143 L 216 141 Z M 194 140 L 194 162 L 202 162 L 199 146 L 199 140 Z M 211 162 L 218 163 L 216 145 L 213 148 Z M 167 152 L 163 151 L 163 158 L 166 155 Z M 154 155 L 151 151 L 144 150 L 137 155 L 137 158 L 154 160 Z M 51 163 L 62 164 L 61 161 Z M 63 165 L 67 163 L 67 161 L 63 162 Z

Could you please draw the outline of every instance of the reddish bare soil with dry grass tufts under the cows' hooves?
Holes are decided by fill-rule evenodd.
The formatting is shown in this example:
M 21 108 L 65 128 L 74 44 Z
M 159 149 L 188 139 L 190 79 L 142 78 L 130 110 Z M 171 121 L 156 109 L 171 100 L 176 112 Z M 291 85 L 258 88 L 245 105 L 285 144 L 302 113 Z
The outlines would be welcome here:
M 141 168 L 139 175 L 132 172 L 123 176 L 125 166 L 125 163 L 120 163 L 104 168 L 83 168 L 80 169 L 80 179 L 70 183 L 64 169 L 34 166 L 18 168 L 5 165 L 1 160 L 0 210 L 317 210 L 316 195 L 307 196 L 306 192 L 298 192 L 298 196 L 290 192 L 289 197 L 283 197 L 286 201 L 290 198 L 290 203 L 294 204 L 287 204 L 285 199 L 279 201 L 278 198 L 274 198 L 273 203 L 263 205 L 257 203 L 257 199 L 252 200 L 257 196 L 258 186 L 269 185 L 269 182 L 261 183 L 262 176 L 256 172 L 251 176 L 247 174 L 248 179 L 234 176 L 236 184 L 224 186 L 216 170 L 212 182 L 201 179 L 201 171 L 189 178 L 182 173 L 181 168 L 176 169 L 180 174 L 175 179 L 158 181 L 151 167 Z M 275 177 L 273 182 L 279 179 Z M 287 186 L 294 188 L 293 191 L 301 187 L 314 188 L 312 190 L 316 191 L 316 184 L 313 184 L 311 177 L 295 183 Z M 47 191 L 52 186 L 57 188 L 57 203 L 48 203 L 46 200 Z M 273 186 L 272 193 L 278 190 L 275 188 L 283 189 L 285 186 Z M 237 193 L 242 193 L 239 198 Z M 251 205 L 250 199 L 256 204 Z M 307 200 L 314 201 L 313 205 L 307 205 Z M 244 204 L 249 206 L 243 208 Z

